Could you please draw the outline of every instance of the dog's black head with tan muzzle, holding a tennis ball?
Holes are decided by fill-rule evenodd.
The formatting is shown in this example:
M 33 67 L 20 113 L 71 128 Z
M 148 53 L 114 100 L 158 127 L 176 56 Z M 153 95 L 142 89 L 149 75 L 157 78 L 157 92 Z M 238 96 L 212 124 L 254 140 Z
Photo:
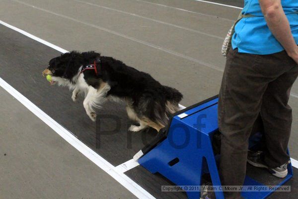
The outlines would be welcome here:
M 77 74 L 81 65 L 79 55 L 80 53 L 72 51 L 51 59 L 48 68 L 42 72 L 42 75 L 44 77 L 51 75 L 52 81 L 50 83 L 52 85 L 56 82 L 61 84 L 69 82 Z

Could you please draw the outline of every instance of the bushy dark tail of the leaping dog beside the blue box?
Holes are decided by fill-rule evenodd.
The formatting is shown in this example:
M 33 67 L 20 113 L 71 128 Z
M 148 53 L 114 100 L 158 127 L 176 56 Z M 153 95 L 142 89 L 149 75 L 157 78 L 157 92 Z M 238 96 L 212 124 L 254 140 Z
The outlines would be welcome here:
M 179 102 L 182 100 L 183 95 L 178 90 L 167 86 L 164 86 L 164 92 L 166 97 L 165 107 L 167 115 L 179 111 Z

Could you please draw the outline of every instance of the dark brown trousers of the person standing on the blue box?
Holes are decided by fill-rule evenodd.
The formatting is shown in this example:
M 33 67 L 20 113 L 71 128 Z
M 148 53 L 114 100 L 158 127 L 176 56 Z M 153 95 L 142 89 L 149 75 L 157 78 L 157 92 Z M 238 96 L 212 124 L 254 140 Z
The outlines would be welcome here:
M 222 185 L 243 185 L 248 139 L 259 114 L 265 130 L 265 162 L 275 168 L 289 160 L 292 109 L 288 101 L 297 76 L 298 65 L 285 51 L 271 55 L 229 51 L 218 110 Z M 240 198 L 236 192 L 224 195 L 226 199 Z

